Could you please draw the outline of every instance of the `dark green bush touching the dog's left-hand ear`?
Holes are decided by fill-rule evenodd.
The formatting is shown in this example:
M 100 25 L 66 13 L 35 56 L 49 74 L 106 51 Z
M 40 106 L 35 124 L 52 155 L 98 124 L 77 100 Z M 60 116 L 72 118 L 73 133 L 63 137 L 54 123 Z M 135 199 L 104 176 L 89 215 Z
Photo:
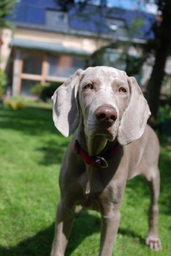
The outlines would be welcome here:
M 50 83 L 49 86 L 45 86 L 43 87 L 41 94 L 40 94 L 40 98 L 41 100 L 43 100 L 44 102 L 46 102 L 48 99 L 51 99 L 51 97 L 53 96 L 53 93 L 55 92 L 55 90 L 61 85 L 63 84 L 62 82 L 52 82 Z

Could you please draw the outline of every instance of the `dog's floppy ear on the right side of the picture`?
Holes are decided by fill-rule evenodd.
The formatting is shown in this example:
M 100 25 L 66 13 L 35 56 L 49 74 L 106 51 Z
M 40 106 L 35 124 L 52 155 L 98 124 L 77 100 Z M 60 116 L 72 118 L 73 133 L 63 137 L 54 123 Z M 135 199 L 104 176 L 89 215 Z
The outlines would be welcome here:
M 130 85 L 130 99 L 125 109 L 118 132 L 118 141 L 121 145 L 127 145 L 133 140 L 139 139 L 145 130 L 145 125 L 151 115 L 148 103 L 142 94 L 134 77 L 128 77 Z

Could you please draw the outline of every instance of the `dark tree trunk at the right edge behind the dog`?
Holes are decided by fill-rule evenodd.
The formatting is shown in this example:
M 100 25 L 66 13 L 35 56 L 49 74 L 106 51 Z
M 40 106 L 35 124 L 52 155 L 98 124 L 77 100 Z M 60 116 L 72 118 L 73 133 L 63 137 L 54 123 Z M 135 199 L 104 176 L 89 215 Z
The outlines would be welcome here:
M 171 1 L 157 0 L 159 11 L 161 11 L 162 20 L 160 26 L 154 29 L 155 40 L 155 63 L 151 78 L 147 87 L 147 101 L 151 110 L 149 123 L 156 124 L 157 111 L 159 107 L 159 96 L 162 81 L 165 76 L 165 63 L 171 52 Z

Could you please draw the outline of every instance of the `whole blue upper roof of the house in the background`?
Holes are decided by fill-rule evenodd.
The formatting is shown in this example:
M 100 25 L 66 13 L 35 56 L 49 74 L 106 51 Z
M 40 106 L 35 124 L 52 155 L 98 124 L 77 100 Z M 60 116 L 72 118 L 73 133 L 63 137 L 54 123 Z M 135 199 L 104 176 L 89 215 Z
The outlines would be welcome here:
M 115 21 L 122 20 L 127 27 L 133 21 L 136 22 L 137 19 L 140 19 L 143 21 L 143 25 L 141 29 L 138 29 L 138 32 L 134 32 L 132 35 L 133 38 L 154 38 L 154 34 L 151 31 L 151 24 L 155 20 L 155 15 L 150 13 L 119 8 L 99 8 L 95 5 L 87 5 L 84 9 L 80 10 L 79 6 L 74 6 L 67 13 L 67 26 L 62 28 L 61 26 L 49 26 L 47 24 L 46 13 L 48 10 L 60 11 L 61 9 L 54 0 L 20 0 L 20 2 L 16 3 L 14 13 L 9 16 L 9 20 L 16 26 L 26 28 L 76 33 L 80 35 L 101 33 L 102 35 L 113 37 L 116 33 L 109 29 L 107 19 Z M 117 37 L 123 37 L 123 29 L 123 26 L 118 29 Z

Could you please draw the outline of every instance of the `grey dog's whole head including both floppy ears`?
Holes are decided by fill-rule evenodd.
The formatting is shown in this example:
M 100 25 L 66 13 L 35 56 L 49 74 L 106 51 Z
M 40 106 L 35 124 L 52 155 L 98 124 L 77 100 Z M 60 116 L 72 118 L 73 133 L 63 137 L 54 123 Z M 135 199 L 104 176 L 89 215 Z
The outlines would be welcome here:
M 55 91 L 53 120 L 68 137 L 79 113 L 87 137 L 103 135 L 126 145 L 142 136 L 150 110 L 136 79 L 112 67 L 77 70 Z

